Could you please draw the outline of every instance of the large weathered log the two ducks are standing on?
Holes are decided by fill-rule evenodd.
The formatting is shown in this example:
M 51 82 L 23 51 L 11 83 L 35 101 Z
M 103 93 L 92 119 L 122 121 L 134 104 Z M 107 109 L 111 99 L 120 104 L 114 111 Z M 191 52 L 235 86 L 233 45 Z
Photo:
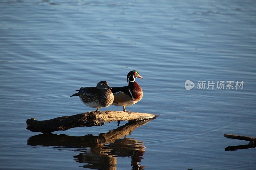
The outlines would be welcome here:
M 33 132 L 51 133 L 81 126 L 101 126 L 106 122 L 113 121 L 142 121 L 154 119 L 157 116 L 158 115 L 138 112 L 93 111 L 72 116 L 56 117 L 44 121 L 37 121 L 36 118 L 31 118 L 27 120 L 26 129 Z

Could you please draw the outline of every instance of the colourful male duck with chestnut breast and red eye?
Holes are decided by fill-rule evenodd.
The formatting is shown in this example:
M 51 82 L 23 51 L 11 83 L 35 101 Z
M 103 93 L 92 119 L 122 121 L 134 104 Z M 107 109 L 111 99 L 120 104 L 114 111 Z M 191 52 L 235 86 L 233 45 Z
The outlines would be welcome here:
M 135 82 L 135 78 L 143 77 L 141 77 L 139 72 L 136 70 L 130 71 L 127 74 L 128 86 L 113 87 L 111 90 L 114 94 L 114 101 L 112 105 L 123 106 L 124 112 L 128 112 L 125 110 L 125 106 L 133 105 L 140 101 L 143 97 L 142 89 L 140 85 Z

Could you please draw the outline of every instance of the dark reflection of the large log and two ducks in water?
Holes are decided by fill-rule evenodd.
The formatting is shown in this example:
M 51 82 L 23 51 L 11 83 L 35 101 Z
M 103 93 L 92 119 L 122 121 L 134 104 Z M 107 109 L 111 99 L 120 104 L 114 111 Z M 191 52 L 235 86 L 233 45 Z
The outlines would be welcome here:
M 39 134 L 28 139 L 30 146 L 55 146 L 59 150 L 77 151 L 74 161 L 84 163 L 82 167 L 90 169 L 116 169 L 117 157 L 130 157 L 131 169 L 143 169 L 140 161 L 145 153 L 143 141 L 127 138 L 136 128 L 148 123 L 150 120 L 141 122 L 128 122 L 108 133 L 98 136 L 86 135 L 81 137 Z

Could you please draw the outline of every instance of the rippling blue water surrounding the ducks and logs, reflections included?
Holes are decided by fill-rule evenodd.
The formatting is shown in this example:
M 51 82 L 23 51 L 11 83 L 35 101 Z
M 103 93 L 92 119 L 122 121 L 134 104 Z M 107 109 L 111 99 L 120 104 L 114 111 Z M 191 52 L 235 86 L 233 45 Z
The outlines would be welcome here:
M 255 42 L 255 1 L 2 0 L 0 169 L 255 169 L 255 148 L 225 151 L 248 142 L 223 137 L 256 137 Z M 26 129 L 92 111 L 69 96 L 102 80 L 125 86 L 131 70 L 143 99 L 126 109 L 156 119 Z

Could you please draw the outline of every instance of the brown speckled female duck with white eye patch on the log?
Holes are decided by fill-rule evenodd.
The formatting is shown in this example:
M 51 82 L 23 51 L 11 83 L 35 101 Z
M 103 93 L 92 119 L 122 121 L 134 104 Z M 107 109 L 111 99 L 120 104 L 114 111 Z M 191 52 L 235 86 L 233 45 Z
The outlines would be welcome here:
M 112 89 L 109 87 L 108 82 L 100 81 L 96 87 L 81 87 L 78 93 L 75 93 L 72 96 L 79 96 L 80 100 L 86 105 L 93 108 L 97 108 L 97 112 L 99 112 L 99 108 L 108 107 L 114 101 L 114 95 L 111 92 Z

